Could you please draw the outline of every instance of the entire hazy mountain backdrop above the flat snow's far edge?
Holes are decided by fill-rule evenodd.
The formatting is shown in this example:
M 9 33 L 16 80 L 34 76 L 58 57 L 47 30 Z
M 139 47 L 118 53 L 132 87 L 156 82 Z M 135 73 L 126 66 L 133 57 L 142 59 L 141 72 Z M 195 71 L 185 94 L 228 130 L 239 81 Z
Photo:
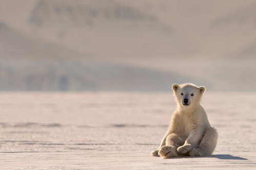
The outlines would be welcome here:
M 0 90 L 256 90 L 256 1 L 0 0 Z

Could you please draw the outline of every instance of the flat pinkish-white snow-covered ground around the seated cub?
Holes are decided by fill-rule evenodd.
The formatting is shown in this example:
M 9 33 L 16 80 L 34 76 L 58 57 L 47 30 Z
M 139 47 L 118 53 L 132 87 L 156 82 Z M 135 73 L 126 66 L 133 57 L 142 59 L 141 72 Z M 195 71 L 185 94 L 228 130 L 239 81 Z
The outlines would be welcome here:
M 255 169 L 256 93 L 208 92 L 214 155 L 151 156 L 175 102 L 169 93 L 0 93 L 1 169 Z

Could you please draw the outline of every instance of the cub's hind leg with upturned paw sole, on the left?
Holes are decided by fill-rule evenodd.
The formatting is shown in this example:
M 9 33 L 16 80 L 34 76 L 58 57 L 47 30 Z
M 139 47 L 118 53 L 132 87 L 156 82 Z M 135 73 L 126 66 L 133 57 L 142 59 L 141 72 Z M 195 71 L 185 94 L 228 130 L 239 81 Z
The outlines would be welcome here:
M 183 140 L 182 138 L 180 138 L 177 134 L 169 134 L 166 137 L 166 142 L 165 142 L 165 146 L 163 146 L 158 154 L 162 157 L 162 158 L 170 158 L 170 157 L 177 157 L 177 156 L 181 156 L 178 152 L 177 152 L 177 148 L 180 147 L 185 140 Z

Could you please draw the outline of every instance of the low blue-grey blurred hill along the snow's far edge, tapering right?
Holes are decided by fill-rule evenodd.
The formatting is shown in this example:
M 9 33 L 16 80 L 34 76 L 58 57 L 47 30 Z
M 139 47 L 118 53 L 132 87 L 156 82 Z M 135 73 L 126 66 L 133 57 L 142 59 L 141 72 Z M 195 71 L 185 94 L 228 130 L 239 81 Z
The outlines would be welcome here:
M 184 76 L 135 66 L 81 60 L 1 62 L 0 90 L 78 91 L 78 90 L 171 90 Z

